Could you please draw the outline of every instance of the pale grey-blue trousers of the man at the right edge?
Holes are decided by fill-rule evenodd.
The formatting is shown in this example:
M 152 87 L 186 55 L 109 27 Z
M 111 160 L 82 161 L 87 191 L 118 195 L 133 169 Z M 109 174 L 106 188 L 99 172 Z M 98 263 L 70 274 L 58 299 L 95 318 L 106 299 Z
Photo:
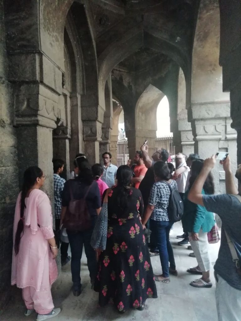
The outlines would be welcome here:
M 216 282 L 216 306 L 219 321 L 241 320 L 241 291 L 230 286 L 219 274 Z

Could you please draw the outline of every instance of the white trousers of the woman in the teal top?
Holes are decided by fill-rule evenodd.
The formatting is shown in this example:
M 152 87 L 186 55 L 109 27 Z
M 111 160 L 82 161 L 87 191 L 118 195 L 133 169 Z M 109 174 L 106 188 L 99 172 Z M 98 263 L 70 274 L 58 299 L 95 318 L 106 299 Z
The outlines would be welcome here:
M 198 241 L 194 241 L 191 233 L 188 232 L 192 250 L 196 256 L 198 266 L 202 272 L 207 272 L 211 268 L 210 257 L 208 253 L 208 233 L 203 232 L 202 229 L 198 233 Z

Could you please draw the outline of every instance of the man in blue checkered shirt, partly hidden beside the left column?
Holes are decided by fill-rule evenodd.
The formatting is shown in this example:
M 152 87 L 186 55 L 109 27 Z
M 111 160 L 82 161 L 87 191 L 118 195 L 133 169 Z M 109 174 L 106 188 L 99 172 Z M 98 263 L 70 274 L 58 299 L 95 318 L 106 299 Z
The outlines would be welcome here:
M 62 191 L 66 180 L 59 176 L 64 170 L 64 161 L 60 159 L 53 160 L 54 166 L 54 208 L 55 208 L 55 230 L 58 231 L 60 228 L 60 214 L 61 214 L 61 202 L 62 202 Z M 61 253 L 61 265 L 66 265 L 70 261 L 68 256 L 68 243 L 61 242 L 60 253 Z

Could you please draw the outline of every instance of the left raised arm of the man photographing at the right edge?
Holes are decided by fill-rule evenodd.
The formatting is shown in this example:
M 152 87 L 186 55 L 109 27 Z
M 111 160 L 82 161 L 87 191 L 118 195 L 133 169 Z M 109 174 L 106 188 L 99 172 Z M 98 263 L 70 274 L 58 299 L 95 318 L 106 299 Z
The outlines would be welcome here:
M 192 187 L 190 189 L 190 192 L 187 196 L 189 201 L 195 204 L 199 204 L 204 206 L 202 201 L 202 188 L 205 183 L 206 178 L 208 177 L 209 172 L 216 164 L 216 158 L 215 155 L 212 155 L 212 157 L 207 158 L 204 161 L 203 168 L 196 178 L 195 182 L 192 184 Z

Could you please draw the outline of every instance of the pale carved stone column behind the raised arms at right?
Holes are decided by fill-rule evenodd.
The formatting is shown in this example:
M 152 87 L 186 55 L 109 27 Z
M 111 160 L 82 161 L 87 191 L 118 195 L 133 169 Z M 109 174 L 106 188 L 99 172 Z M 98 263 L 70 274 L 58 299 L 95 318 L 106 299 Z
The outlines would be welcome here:
M 233 160 L 233 170 L 235 170 L 235 167 L 237 168 L 235 165 L 237 133 L 230 126 L 229 104 L 228 101 L 219 101 L 192 105 L 192 114 L 195 119 L 195 152 L 202 159 L 218 151 L 228 152 Z M 215 192 L 225 193 L 225 174 L 219 163 L 212 170 L 212 174 Z

